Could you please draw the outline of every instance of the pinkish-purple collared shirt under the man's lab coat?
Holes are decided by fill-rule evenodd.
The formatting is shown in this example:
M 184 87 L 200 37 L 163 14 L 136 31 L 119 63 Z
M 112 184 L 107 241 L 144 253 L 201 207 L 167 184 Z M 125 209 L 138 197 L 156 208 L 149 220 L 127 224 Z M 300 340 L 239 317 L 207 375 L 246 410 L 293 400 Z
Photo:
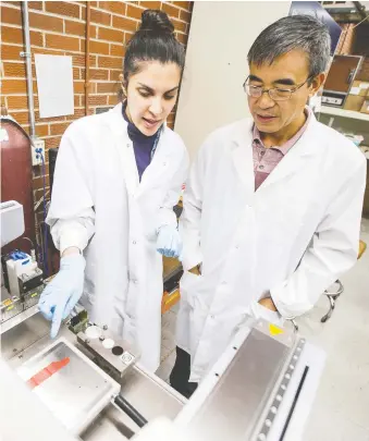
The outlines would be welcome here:
M 305 111 L 307 119 L 303 127 L 288 139 L 283 146 L 275 146 L 266 148 L 256 124 L 253 127 L 253 159 L 254 159 L 254 173 L 255 173 L 255 191 L 266 181 L 269 174 L 275 169 L 283 157 L 288 150 L 297 143 L 303 136 L 306 127 L 311 119 L 311 110 L 306 108 Z

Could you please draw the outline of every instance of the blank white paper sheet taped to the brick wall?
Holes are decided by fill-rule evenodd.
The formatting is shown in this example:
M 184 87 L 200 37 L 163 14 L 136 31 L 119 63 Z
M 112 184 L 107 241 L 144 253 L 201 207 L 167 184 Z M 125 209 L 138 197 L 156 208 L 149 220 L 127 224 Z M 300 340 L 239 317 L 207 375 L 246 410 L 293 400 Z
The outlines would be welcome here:
M 36 53 L 40 118 L 74 114 L 72 57 Z

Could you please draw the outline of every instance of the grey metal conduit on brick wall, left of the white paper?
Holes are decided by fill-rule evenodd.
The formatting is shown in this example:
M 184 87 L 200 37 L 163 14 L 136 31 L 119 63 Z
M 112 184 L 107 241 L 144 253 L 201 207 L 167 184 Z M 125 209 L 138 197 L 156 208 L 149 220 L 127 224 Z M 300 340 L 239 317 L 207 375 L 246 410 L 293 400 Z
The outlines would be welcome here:
M 23 34 L 25 44 L 25 61 L 26 61 L 26 76 L 27 76 L 27 91 L 28 91 L 28 112 L 29 112 L 29 135 L 30 139 L 36 138 L 36 124 L 35 124 L 35 103 L 34 103 L 34 87 L 32 76 L 32 54 L 30 54 L 30 38 L 29 38 L 29 19 L 28 19 L 28 4 L 22 1 L 22 17 L 23 17 Z

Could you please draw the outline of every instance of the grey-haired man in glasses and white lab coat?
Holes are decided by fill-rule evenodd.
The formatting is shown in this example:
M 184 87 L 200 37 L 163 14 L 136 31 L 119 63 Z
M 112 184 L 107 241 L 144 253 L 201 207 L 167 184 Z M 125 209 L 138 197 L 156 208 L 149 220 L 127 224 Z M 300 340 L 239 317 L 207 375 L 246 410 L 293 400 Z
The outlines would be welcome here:
M 184 195 L 177 357 L 189 396 L 247 316 L 307 313 L 357 259 L 366 161 L 306 107 L 322 86 L 330 35 L 295 15 L 248 53 L 251 119 L 210 134 Z

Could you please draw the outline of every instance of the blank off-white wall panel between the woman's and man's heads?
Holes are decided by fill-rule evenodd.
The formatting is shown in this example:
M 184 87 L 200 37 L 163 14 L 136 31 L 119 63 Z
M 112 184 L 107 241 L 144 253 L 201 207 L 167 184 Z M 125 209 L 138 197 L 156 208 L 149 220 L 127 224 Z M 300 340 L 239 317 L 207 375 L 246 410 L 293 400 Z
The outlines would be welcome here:
M 243 83 L 260 32 L 290 1 L 195 1 L 174 130 L 190 157 L 214 128 L 249 114 Z

